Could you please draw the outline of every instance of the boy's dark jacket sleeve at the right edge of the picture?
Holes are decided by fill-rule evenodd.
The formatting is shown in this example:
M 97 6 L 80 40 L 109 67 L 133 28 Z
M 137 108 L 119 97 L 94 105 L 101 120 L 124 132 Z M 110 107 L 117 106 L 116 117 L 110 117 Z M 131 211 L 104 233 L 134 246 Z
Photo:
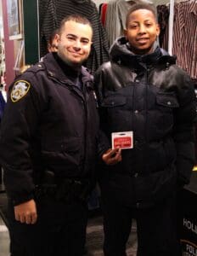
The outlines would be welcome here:
M 183 186 L 189 183 L 194 167 L 194 123 L 196 120 L 194 86 L 185 73 L 179 76 L 177 96 L 179 108 L 176 113 L 174 140 L 177 148 L 177 183 Z

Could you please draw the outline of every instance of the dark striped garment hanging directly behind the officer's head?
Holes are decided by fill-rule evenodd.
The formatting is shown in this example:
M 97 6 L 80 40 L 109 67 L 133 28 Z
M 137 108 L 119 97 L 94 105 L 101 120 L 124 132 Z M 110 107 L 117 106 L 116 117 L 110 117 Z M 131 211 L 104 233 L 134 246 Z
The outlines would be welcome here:
M 72 14 L 87 17 L 93 26 L 93 45 L 85 66 L 94 73 L 103 62 L 109 61 L 109 43 L 96 4 L 91 0 L 48 0 L 41 28 L 41 55 L 47 53 L 47 41 L 51 32 L 65 16 Z

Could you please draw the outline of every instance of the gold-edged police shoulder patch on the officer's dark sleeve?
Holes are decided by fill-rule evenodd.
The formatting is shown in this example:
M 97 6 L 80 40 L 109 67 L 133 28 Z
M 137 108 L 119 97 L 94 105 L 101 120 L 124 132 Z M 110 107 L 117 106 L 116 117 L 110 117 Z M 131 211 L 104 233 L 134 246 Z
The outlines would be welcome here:
M 27 94 L 28 90 L 30 90 L 30 87 L 31 84 L 25 80 L 15 82 L 10 94 L 12 102 L 20 101 Z

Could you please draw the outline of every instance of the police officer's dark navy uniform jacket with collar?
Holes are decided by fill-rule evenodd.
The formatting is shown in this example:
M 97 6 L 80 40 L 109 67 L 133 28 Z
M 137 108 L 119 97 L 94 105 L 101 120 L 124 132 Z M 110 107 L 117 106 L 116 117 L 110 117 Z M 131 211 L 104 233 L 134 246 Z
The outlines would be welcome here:
M 98 113 L 93 78 L 84 67 L 81 77 L 83 92 L 48 54 L 14 81 L 29 84 L 19 101 L 8 97 L 2 121 L 0 159 L 14 204 L 32 198 L 45 170 L 57 180 L 93 180 Z

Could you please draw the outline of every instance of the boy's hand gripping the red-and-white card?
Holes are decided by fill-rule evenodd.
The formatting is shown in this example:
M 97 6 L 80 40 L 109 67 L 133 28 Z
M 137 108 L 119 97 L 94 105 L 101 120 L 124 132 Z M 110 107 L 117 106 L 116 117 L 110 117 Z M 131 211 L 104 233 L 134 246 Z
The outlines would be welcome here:
M 121 148 L 108 149 L 103 155 L 102 160 L 108 166 L 113 166 L 121 161 Z

